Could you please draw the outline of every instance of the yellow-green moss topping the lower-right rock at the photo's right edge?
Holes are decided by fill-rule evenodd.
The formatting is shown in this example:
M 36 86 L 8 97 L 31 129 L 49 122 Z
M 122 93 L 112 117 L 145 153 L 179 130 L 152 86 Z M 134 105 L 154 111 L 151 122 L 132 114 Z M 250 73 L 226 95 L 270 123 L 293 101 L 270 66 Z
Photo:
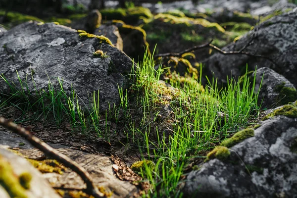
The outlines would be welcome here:
M 273 116 L 285 115 L 291 118 L 297 118 L 297 104 L 296 101 L 291 104 L 286 104 L 278 109 L 275 109 L 272 113 L 266 115 L 263 120 L 267 120 Z

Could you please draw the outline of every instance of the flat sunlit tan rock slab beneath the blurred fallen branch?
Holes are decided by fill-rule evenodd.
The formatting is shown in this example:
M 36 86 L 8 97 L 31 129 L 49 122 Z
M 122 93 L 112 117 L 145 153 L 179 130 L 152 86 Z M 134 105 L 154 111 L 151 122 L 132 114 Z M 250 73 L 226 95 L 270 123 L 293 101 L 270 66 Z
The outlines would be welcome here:
M 22 143 L 23 146 L 19 146 L 20 143 Z M 130 182 L 121 181 L 117 178 L 117 176 L 113 172 L 113 162 L 110 160 L 109 156 L 105 154 L 91 154 L 77 149 L 69 148 L 61 144 L 49 145 L 82 165 L 91 174 L 91 177 L 96 186 L 103 187 L 105 189 L 105 192 L 107 193 L 113 192 L 111 198 L 133 197 L 133 193 L 136 193 L 138 191 L 136 186 L 132 185 Z M 38 149 L 33 148 L 27 141 L 23 140 L 20 137 L 13 136 L 13 134 L 11 134 L 10 132 L 5 131 L 0 131 L 0 147 L 20 148 L 18 149 L 20 153 L 32 159 L 38 159 L 44 155 Z M 19 163 L 14 164 L 16 168 L 19 167 Z M 42 176 L 49 181 L 52 187 L 76 189 L 85 188 L 85 184 L 82 179 L 70 169 L 67 169 L 63 174 L 44 173 Z

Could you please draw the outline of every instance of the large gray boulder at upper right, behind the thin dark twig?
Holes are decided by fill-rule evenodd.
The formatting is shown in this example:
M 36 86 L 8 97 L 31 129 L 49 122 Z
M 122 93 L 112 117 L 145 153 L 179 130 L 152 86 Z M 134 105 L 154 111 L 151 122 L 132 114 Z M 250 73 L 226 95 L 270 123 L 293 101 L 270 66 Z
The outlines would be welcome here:
M 226 46 L 223 50 L 237 51 L 243 49 L 246 45 L 247 48 L 243 51 L 268 56 L 273 62 L 266 58 L 244 54 L 223 55 L 215 53 L 204 61 L 205 68 L 208 70 L 206 75 L 212 76 L 212 72 L 214 72 L 218 82 L 226 83 L 227 75 L 243 75 L 247 65 L 249 70 L 254 70 L 255 66 L 257 68 L 268 67 L 282 74 L 297 86 L 296 9 L 263 22 L 236 43 Z

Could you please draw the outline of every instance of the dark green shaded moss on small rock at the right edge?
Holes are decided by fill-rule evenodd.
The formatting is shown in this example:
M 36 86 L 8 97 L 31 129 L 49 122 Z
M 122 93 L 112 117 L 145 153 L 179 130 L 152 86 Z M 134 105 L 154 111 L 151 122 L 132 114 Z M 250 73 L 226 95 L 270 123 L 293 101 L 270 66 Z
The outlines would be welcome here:
M 276 86 L 274 89 L 275 92 L 279 93 L 276 101 L 278 105 L 284 105 L 289 102 L 297 100 L 297 91 L 295 88 L 285 87 L 285 82 Z

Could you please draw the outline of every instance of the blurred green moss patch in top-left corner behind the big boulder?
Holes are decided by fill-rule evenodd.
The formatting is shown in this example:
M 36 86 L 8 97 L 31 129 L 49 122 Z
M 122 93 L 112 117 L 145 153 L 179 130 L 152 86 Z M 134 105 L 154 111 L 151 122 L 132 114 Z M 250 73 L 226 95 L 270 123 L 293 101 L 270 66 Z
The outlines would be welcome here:
M 5 11 L 4 10 L 0 10 L 0 16 L 4 16 Z M 27 22 L 27 21 L 40 21 L 40 22 L 44 22 L 42 19 L 37 18 L 35 16 L 30 16 L 30 15 L 25 15 L 25 14 L 21 14 L 19 12 L 8 12 L 7 16 L 6 16 L 6 20 L 7 22 L 4 24 L 5 26 L 11 28 L 15 25 Z

